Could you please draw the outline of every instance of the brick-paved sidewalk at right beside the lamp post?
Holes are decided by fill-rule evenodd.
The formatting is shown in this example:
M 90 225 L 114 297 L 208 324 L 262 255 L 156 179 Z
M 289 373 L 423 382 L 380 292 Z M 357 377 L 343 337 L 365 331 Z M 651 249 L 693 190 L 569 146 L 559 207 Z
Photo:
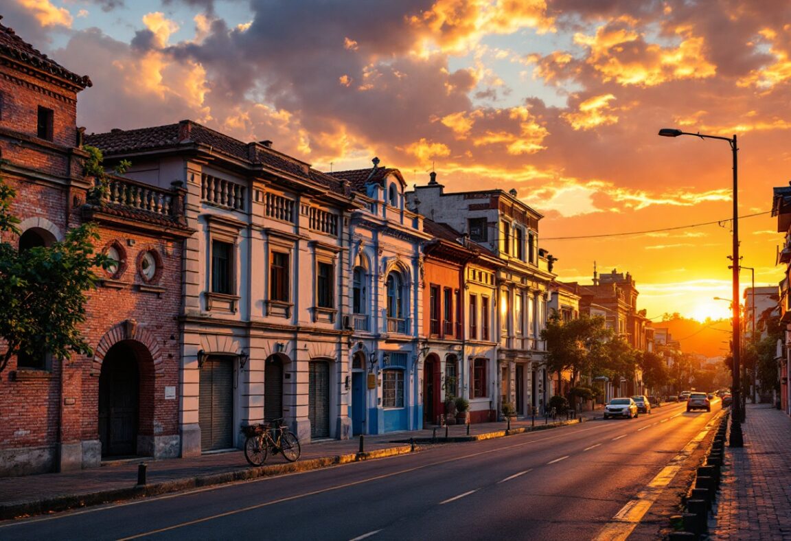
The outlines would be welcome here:
M 725 447 L 711 539 L 791 539 L 791 418 L 747 404 L 744 448 Z

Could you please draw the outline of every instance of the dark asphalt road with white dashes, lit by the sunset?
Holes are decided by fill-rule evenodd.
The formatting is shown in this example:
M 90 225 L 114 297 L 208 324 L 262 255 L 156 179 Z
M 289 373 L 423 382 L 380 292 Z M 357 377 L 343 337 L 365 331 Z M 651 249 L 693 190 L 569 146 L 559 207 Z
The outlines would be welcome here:
M 21 520 L 0 526 L 0 539 L 593 539 L 719 409 L 670 404 Z

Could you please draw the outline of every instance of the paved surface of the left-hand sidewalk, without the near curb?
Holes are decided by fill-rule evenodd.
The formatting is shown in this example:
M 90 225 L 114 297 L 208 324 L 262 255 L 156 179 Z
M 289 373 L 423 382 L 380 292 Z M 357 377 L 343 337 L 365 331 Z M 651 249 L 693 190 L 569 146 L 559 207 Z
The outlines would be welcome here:
M 586 420 L 601 418 L 601 412 L 586 412 L 582 415 Z M 565 420 L 565 417 L 558 421 Z M 544 418 L 536 418 L 536 426 L 541 426 Z M 551 423 L 551 419 L 549 420 Z M 532 425 L 532 418 L 519 419 L 511 423 L 512 429 L 520 429 Z M 505 422 L 486 422 L 470 426 L 470 435 L 490 434 L 502 436 L 507 428 Z M 498 433 L 500 432 L 500 433 Z M 448 427 L 449 437 L 464 437 L 467 426 Z M 428 439 L 434 434 L 433 428 L 414 430 L 411 432 L 387 433 L 377 436 L 365 436 L 365 452 L 378 452 L 387 449 L 404 447 L 411 437 L 415 440 Z M 438 427 L 436 436 L 439 441 L 445 437 L 445 427 Z M 302 446 L 300 462 L 310 459 L 354 454 L 359 451 L 359 437 L 350 440 L 317 441 Z M 217 452 L 204 454 L 194 458 L 153 460 L 138 458 L 128 461 L 105 463 L 102 467 L 88 470 L 67 471 L 24 477 L 6 477 L 0 479 L 0 508 L 8 505 L 25 504 L 30 501 L 48 501 L 57 497 L 83 497 L 108 490 L 122 490 L 135 486 L 138 479 L 138 463 L 146 462 L 146 480 L 150 483 L 177 482 L 184 479 L 206 478 L 211 475 L 233 473 L 248 469 L 247 461 L 241 451 Z M 266 465 L 286 463 L 282 456 L 270 456 Z

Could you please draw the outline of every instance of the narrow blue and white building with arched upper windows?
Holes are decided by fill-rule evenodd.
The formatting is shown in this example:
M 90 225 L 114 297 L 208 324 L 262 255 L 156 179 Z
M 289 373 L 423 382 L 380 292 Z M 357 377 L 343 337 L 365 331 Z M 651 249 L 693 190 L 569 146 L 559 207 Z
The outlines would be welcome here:
M 346 287 L 352 344 L 352 433 L 422 427 L 423 218 L 407 209 L 398 169 L 379 165 L 330 173 L 358 204 L 348 221 Z

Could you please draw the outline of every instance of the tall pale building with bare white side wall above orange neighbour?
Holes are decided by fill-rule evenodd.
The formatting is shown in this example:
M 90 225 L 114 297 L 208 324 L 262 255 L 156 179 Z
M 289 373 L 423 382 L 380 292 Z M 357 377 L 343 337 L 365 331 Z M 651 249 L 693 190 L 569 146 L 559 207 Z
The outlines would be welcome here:
M 554 278 L 550 255 L 539 251 L 538 224 L 541 214 L 525 205 L 512 190 L 445 193 L 432 173 L 430 182 L 407 194 L 412 209 L 433 221 L 445 223 L 478 244 L 498 260 L 494 271 L 493 297 L 467 295 L 469 310 L 480 301 L 482 317 L 494 309 L 489 336 L 498 343 L 496 360 L 483 366 L 483 358 L 471 357 L 469 370 L 475 380 L 471 389 L 471 411 L 481 411 L 494 420 L 503 403 L 511 403 L 517 414 L 547 403 L 546 344 L 540 338 L 547 321 L 549 284 Z M 486 273 L 482 277 L 489 278 Z M 477 310 L 478 307 L 475 306 Z M 486 322 L 488 325 L 488 322 Z M 483 324 L 483 322 L 482 322 Z M 476 378 L 475 373 L 485 374 Z M 486 410 L 476 409 L 486 407 Z

